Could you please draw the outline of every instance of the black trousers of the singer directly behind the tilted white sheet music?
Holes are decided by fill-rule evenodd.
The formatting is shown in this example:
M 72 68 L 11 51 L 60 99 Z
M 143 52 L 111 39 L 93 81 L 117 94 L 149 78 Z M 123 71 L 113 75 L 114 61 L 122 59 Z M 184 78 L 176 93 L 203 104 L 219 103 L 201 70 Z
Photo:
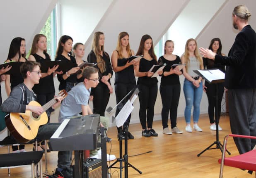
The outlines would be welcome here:
M 135 88 L 135 84 L 133 83 L 116 83 L 115 84 L 115 93 L 116 93 L 116 104 L 118 104 L 123 97 L 125 97 L 130 90 L 133 90 Z M 116 116 L 117 114 L 120 112 L 120 110 L 122 109 L 122 107 L 126 104 L 126 102 L 130 99 L 130 96 L 132 95 L 132 93 L 130 93 L 130 95 L 128 95 L 116 108 Z M 130 124 L 130 115 L 127 118 L 126 121 L 127 124 L 127 128 L 129 127 Z M 118 133 L 121 131 L 121 127 L 118 129 Z

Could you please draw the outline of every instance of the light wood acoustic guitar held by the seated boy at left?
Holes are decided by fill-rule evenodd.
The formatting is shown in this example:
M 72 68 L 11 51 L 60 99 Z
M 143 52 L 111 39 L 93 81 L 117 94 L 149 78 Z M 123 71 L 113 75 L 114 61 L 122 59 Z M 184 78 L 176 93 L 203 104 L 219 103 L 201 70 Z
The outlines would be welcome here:
M 59 96 L 65 98 L 68 93 L 65 90 L 61 90 Z M 7 114 L 5 116 L 5 123 L 10 133 L 14 138 L 20 143 L 27 143 L 30 140 L 36 138 L 39 130 L 39 126 L 44 125 L 48 122 L 48 116 L 46 110 L 52 107 L 56 102 L 55 98 L 44 104 L 43 113 L 38 115 L 34 112 L 26 110 L 25 113 L 13 113 Z M 41 106 L 36 101 L 29 102 L 28 105 L 31 106 Z

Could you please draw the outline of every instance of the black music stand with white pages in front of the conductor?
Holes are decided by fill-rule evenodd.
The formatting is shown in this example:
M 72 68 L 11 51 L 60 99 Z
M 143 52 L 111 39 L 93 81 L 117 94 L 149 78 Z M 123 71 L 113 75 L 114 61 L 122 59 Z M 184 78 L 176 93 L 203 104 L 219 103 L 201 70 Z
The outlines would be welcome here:
M 207 150 L 220 149 L 221 152 L 223 150 L 223 145 L 219 141 L 218 84 L 223 83 L 225 81 L 225 74 L 222 71 L 220 71 L 219 69 L 194 70 L 193 72 L 198 74 L 200 77 L 204 78 L 210 84 L 215 84 L 215 86 L 216 86 L 216 92 L 215 92 L 215 95 L 216 95 L 216 107 L 215 107 L 216 141 L 214 141 L 210 146 L 205 148 L 205 150 L 203 150 L 202 152 L 197 154 L 197 156 L 199 157 L 201 154 L 203 154 L 203 152 L 205 152 Z M 213 147 L 213 145 L 216 145 L 216 147 Z M 226 150 L 226 152 L 229 155 L 231 154 L 228 150 Z

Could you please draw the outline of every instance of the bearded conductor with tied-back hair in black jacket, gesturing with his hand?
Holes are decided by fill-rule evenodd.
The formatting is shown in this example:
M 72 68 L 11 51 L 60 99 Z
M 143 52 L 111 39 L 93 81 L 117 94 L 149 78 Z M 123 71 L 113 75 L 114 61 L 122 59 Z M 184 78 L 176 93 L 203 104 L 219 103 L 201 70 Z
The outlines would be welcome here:
M 246 6 L 234 8 L 233 26 L 240 32 L 227 57 L 202 47 L 200 52 L 215 63 L 227 66 L 225 87 L 232 134 L 256 136 L 256 33 L 248 24 L 250 16 Z M 240 154 L 252 150 L 256 143 L 243 138 L 234 138 L 234 142 Z

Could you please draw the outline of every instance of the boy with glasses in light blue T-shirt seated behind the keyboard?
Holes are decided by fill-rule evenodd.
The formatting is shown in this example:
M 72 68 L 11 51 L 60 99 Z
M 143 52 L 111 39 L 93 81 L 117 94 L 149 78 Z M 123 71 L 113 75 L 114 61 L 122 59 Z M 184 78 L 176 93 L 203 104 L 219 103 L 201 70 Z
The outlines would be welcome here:
M 60 106 L 59 121 L 62 122 L 66 118 L 88 115 L 92 114 L 92 110 L 88 105 L 91 88 L 95 88 L 99 84 L 99 74 L 98 69 L 94 67 L 86 67 L 82 72 L 83 82 L 75 85 L 69 92 L 68 96 L 63 100 Z M 102 121 L 101 121 L 102 122 Z M 100 151 L 91 151 L 91 155 L 97 155 Z M 68 169 L 70 167 L 70 160 L 72 158 L 71 151 L 61 151 L 58 155 L 63 155 L 62 158 L 58 160 L 58 168 L 56 173 L 63 172 L 63 169 Z M 64 156 L 65 155 L 65 156 Z M 98 155 L 97 155 L 98 156 Z M 112 158 L 114 155 L 107 155 L 107 159 Z M 95 157 L 94 157 L 95 158 Z M 99 158 L 99 157 L 97 157 Z M 116 157 L 114 156 L 114 159 Z

